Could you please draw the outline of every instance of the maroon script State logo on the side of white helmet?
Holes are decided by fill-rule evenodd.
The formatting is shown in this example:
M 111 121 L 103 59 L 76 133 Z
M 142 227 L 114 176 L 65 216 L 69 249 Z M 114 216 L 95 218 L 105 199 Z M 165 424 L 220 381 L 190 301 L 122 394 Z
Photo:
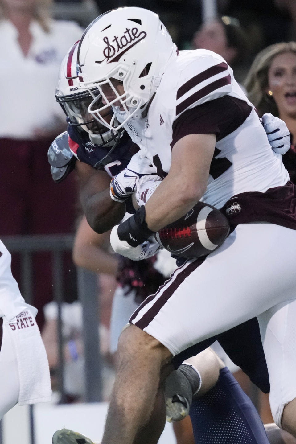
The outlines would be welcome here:
M 123 36 L 114 36 L 114 39 L 111 41 L 111 43 L 114 43 L 113 45 L 109 42 L 108 37 L 104 37 L 103 40 L 107 46 L 103 49 L 103 54 L 105 59 L 107 59 L 107 63 L 118 62 L 122 54 L 139 43 L 141 40 L 145 39 L 146 36 L 146 32 L 139 32 L 138 28 L 126 28 Z M 123 51 L 121 51 L 122 49 Z M 96 60 L 95 63 L 102 63 L 105 59 L 101 61 Z

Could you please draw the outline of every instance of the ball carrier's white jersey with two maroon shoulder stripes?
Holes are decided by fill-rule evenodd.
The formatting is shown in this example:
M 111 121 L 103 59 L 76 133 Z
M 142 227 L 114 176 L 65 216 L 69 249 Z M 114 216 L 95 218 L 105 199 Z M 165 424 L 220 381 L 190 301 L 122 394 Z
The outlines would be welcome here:
M 130 119 L 125 125 L 142 154 L 154 164 L 158 175 L 164 177 L 170 170 L 171 149 L 176 142 L 174 123 L 178 124 L 180 118 L 188 115 L 184 115 L 186 111 L 194 108 L 192 112 L 196 112 L 199 107 L 209 106 L 211 101 L 215 107 L 217 101 L 214 100 L 225 97 L 234 103 L 233 118 L 237 117 L 235 107 L 238 114 L 241 112 L 240 103 L 247 112 L 244 111 L 245 117 L 241 114 L 243 119 L 237 127 L 230 124 L 231 131 L 217 136 L 207 190 L 201 199 L 217 208 L 238 193 L 265 192 L 284 185 L 289 179 L 281 155 L 270 148 L 256 110 L 221 56 L 203 49 L 181 51 L 162 76 L 146 117 Z M 124 115 L 118 113 L 118 121 L 123 118 Z M 206 129 L 207 124 L 205 129 L 193 126 L 192 130 L 188 129 L 188 122 L 186 125 L 187 134 L 214 132 Z

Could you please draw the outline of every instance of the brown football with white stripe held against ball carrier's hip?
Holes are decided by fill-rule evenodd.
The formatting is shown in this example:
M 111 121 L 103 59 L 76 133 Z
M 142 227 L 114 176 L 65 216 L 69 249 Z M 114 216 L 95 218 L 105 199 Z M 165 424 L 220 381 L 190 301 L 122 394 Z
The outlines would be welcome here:
M 200 258 L 212 253 L 229 234 L 229 222 L 217 208 L 204 202 L 185 216 L 159 230 L 155 237 L 170 253 L 182 258 Z

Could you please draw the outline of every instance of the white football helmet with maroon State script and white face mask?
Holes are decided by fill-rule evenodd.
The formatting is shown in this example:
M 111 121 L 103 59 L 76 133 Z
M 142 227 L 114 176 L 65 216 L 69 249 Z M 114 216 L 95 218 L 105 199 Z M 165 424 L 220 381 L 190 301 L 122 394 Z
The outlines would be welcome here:
M 93 96 L 88 111 L 108 128 L 119 129 L 129 119 L 139 119 L 156 92 L 167 64 L 177 58 L 178 49 L 157 14 L 143 8 L 118 8 L 96 18 L 78 45 L 79 87 Z M 119 94 L 111 79 L 122 82 Z M 113 91 L 108 99 L 106 85 Z M 99 90 L 99 103 L 93 88 Z M 112 106 L 115 115 L 107 124 L 102 112 Z

